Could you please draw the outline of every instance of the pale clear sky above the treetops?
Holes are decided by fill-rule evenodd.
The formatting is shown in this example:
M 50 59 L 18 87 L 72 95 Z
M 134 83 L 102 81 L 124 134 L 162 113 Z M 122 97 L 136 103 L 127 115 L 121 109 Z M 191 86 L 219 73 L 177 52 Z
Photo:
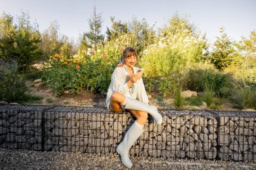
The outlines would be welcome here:
M 28 12 L 31 22 L 37 22 L 40 32 L 57 21 L 59 32 L 77 40 L 88 32 L 88 19 L 101 13 L 102 33 L 111 26 L 110 17 L 129 22 L 132 17 L 143 17 L 155 29 L 168 22 L 174 13 L 187 16 L 189 22 L 206 34 L 209 42 L 220 36 L 220 27 L 232 40 L 249 37 L 256 30 L 256 0 L 0 0 L 0 12 L 15 18 L 21 11 Z

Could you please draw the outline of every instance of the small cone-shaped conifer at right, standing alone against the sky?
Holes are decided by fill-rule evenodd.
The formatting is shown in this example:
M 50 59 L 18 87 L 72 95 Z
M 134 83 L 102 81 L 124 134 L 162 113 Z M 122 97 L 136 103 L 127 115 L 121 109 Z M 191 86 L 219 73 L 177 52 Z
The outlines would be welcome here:
M 220 37 L 214 42 L 214 50 L 211 52 L 211 62 L 217 69 L 224 70 L 230 65 L 236 65 L 241 56 L 234 48 L 234 43 L 228 38 L 224 32 L 224 28 L 220 28 Z

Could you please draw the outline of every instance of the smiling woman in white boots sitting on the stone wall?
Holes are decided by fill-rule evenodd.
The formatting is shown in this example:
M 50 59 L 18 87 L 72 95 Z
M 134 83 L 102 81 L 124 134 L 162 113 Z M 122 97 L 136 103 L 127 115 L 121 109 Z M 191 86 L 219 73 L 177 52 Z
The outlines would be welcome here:
M 148 95 L 141 79 L 143 69 L 135 67 L 136 63 L 135 49 L 125 48 L 122 65 L 113 72 L 106 96 L 108 110 L 122 112 L 125 109 L 137 118 L 125 134 L 123 141 L 117 146 L 117 153 L 121 155 L 123 164 L 129 168 L 133 166 L 129 159 L 129 149 L 143 133 L 148 114 L 154 118 L 156 124 L 162 124 L 162 116 L 157 108 L 148 105 Z

